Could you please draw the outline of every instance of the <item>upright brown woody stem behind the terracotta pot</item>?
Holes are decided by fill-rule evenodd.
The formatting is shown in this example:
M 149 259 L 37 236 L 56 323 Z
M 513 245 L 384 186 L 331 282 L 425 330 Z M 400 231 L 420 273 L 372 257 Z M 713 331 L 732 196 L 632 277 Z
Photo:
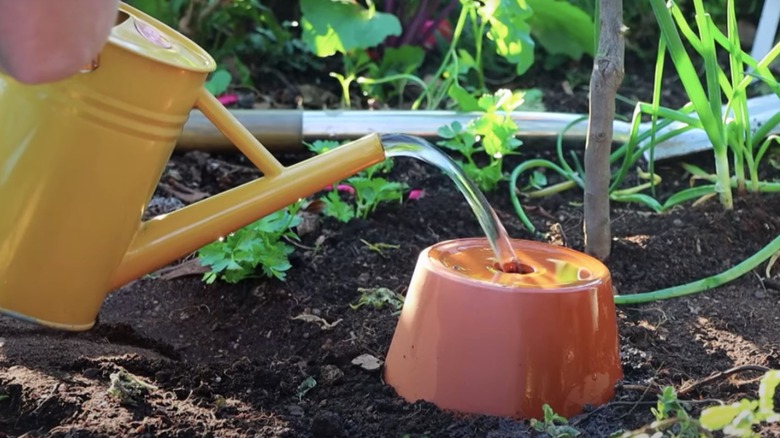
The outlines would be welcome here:
M 585 252 L 609 257 L 609 160 L 615 95 L 623 82 L 623 0 L 599 0 L 599 47 L 590 82 L 590 121 L 585 144 Z

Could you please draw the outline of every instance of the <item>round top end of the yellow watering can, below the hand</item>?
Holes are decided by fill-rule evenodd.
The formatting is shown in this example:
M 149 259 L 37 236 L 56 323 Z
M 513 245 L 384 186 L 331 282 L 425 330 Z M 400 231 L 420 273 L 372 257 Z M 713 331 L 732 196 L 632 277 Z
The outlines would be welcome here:
M 203 48 L 150 15 L 121 2 L 109 43 L 181 69 L 209 73 L 216 62 Z

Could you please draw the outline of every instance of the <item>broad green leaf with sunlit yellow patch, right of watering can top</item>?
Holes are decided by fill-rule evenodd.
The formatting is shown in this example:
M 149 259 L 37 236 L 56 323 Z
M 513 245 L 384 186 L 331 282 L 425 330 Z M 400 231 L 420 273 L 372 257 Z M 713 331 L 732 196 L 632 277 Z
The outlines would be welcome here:
M 357 2 L 301 0 L 302 39 L 321 57 L 366 49 L 401 34 L 392 14 L 366 9 Z

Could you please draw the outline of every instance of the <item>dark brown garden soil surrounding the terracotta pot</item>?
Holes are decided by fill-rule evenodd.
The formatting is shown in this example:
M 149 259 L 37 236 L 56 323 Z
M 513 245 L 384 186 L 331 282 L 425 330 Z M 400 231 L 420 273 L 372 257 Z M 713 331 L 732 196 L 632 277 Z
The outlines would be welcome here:
M 554 109 L 587 110 L 585 92 L 575 91 L 579 106 L 557 102 Z M 549 153 L 529 144 L 519 159 L 534 146 L 535 153 Z M 695 159 L 708 164 L 706 155 Z M 235 157 L 200 152 L 177 154 L 167 177 L 173 171 L 207 193 L 255 176 Z M 688 184 L 674 164 L 657 171 L 667 193 Z M 358 288 L 404 293 L 421 250 L 481 234 L 441 174 L 399 159 L 393 178 L 425 196 L 383 206 L 367 220 L 316 219 L 285 282 L 146 277 L 110 295 L 98 325 L 85 333 L 1 318 L 0 436 L 533 436 L 527 420 L 407 403 L 380 372 L 352 365 L 362 354 L 383 359 L 397 321 L 387 309 L 350 308 Z M 506 186 L 488 198 L 512 237 L 534 238 L 520 225 Z M 548 232 L 546 241 L 582 250 L 580 198 L 571 191 L 526 205 Z M 613 205 L 612 227 L 607 264 L 616 290 L 652 291 L 721 272 L 759 250 L 780 230 L 780 197 L 739 197 L 733 211 L 715 200 L 666 214 Z M 398 247 L 379 253 L 364 241 Z M 780 367 L 780 280 L 777 269 L 768 277 L 764 269 L 703 294 L 620 307 L 625 379 L 612 401 L 570 423 L 593 437 L 642 427 L 653 421 L 650 408 L 664 385 L 680 391 L 694 413 L 713 400 L 755 398 L 761 370 Z M 339 322 L 323 330 L 293 319 L 303 313 Z M 705 380 L 744 366 L 750 367 Z M 154 387 L 135 398 L 115 397 L 108 391 L 114 373 Z M 317 384 L 303 393 L 310 377 Z M 762 434 L 780 436 L 780 429 Z

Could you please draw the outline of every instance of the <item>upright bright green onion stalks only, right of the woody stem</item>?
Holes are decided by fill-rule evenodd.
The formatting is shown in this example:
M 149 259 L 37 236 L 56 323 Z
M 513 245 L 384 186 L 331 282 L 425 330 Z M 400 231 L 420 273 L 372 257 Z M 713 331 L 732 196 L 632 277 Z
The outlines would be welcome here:
M 693 3 L 698 33 L 688 25 L 673 0 L 668 3 L 664 0 L 650 0 L 661 28 L 662 42 L 690 98 L 701 129 L 712 143 L 716 171 L 712 190 L 718 193 L 723 207 L 730 209 L 733 200 L 729 151 L 733 155 L 736 187 L 740 191 L 746 188 L 751 191 L 761 190 L 758 166 L 769 145 L 764 142 L 764 137 L 780 123 L 780 113 L 761 129 L 753 131 L 750 126 L 747 88 L 758 78 L 780 96 L 780 87 L 768 69 L 769 63 L 780 54 L 780 44 L 775 45 L 762 60 L 756 62 L 740 47 L 734 0 L 727 2 L 726 34 L 704 10 L 702 0 L 694 0 Z M 683 38 L 693 51 L 701 56 L 704 64 L 703 83 L 686 50 Z M 728 54 L 728 74 L 718 64 L 718 48 Z M 745 73 L 747 68 L 752 70 L 750 74 Z M 761 142 L 764 142 L 763 145 Z M 746 184 L 746 168 L 749 184 Z

